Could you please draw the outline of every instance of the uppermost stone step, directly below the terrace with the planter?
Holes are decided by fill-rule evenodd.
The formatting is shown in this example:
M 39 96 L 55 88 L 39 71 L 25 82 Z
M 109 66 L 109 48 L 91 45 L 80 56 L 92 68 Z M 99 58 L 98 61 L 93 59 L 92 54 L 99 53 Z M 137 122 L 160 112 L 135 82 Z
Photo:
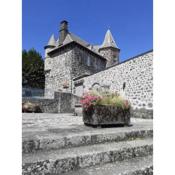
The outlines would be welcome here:
M 58 131 L 59 132 L 59 131 Z M 106 142 L 119 142 L 153 136 L 152 128 L 107 128 L 93 131 L 69 132 L 66 136 L 51 132 L 46 135 L 35 135 L 33 138 L 23 138 L 23 153 L 37 152 L 41 150 L 54 150 L 71 148 Z

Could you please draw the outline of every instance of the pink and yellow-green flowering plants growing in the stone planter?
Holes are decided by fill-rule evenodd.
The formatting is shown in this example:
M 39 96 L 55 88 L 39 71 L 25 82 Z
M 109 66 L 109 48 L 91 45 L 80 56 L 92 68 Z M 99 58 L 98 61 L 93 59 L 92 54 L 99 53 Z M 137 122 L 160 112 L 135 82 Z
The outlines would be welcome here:
M 105 105 L 105 106 L 117 106 L 122 109 L 129 109 L 130 102 L 120 96 L 119 93 L 99 93 L 96 91 L 89 91 L 85 93 L 82 100 L 80 101 L 85 110 L 89 107 L 95 105 Z

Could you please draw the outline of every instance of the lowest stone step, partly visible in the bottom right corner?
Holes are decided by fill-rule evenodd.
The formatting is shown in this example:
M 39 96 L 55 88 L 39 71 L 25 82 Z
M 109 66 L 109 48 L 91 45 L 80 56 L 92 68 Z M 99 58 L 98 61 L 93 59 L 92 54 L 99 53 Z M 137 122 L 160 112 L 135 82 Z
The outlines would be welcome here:
M 96 165 L 63 175 L 153 175 L 153 157 L 135 157 L 129 160 Z

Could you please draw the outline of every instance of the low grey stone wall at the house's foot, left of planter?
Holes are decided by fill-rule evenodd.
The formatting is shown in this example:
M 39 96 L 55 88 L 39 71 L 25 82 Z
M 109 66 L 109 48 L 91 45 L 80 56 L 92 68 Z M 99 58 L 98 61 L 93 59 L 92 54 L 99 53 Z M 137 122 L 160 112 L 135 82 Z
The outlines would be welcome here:
M 55 92 L 54 99 L 23 97 L 22 102 L 39 104 L 43 113 L 72 113 L 80 100 L 71 93 Z

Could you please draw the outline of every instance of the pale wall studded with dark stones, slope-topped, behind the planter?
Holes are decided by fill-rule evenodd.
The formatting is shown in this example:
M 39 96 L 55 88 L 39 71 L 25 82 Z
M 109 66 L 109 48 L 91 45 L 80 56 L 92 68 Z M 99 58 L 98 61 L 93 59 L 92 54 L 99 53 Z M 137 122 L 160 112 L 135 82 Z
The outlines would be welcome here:
M 153 52 L 131 58 L 94 75 L 75 81 L 83 81 L 83 92 L 93 86 L 108 87 L 118 91 L 131 102 L 133 109 L 153 108 Z M 75 87 L 75 91 L 76 88 Z

